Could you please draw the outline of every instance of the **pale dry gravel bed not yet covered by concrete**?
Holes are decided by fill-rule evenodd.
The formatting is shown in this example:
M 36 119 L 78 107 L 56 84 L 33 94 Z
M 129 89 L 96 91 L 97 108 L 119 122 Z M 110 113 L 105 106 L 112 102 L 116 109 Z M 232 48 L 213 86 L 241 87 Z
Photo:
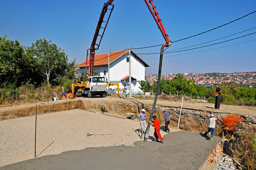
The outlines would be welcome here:
M 87 147 L 133 146 L 135 141 L 142 140 L 134 131 L 138 127 L 138 121 L 79 109 L 38 115 L 36 155 L 41 157 Z M 87 133 L 112 135 L 86 137 Z M 149 135 L 153 133 L 154 128 L 150 127 Z M 165 134 L 161 131 L 162 136 Z M 34 142 L 35 116 L 0 121 L 0 167 L 34 158 Z

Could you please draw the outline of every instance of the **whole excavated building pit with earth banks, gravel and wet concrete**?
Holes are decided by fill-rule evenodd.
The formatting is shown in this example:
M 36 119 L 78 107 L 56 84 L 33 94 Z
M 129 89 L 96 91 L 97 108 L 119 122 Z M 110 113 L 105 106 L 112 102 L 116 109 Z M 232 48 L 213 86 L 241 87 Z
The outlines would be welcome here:
M 229 141 L 225 153 L 242 163 L 249 159 L 243 143 L 255 140 L 255 124 L 248 119 L 256 115 L 255 107 L 221 105 L 216 111 L 211 103 L 184 102 L 177 129 L 181 102 L 159 100 L 154 115 L 160 124 L 164 122 L 163 110 L 172 115 L 171 133 L 160 127 L 165 140 L 161 144 L 154 139 L 154 127 L 150 127 L 149 140 L 144 142 L 139 139 L 137 116 L 135 120 L 126 118 L 128 113 L 137 115 L 136 103 L 139 110 L 146 110 L 148 118 L 153 100 L 141 97 L 76 98 L 1 108 L 0 169 L 214 169 L 202 165 L 221 142 L 223 131 Z M 33 159 L 36 107 L 37 158 Z M 234 131 L 220 123 L 210 141 L 203 134 L 210 114 L 220 121 L 230 115 L 245 120 L 238 122 Z M 87 133 L 112 135 L 87 137 Z M 250 152 L 249 148 L 246 153 Z

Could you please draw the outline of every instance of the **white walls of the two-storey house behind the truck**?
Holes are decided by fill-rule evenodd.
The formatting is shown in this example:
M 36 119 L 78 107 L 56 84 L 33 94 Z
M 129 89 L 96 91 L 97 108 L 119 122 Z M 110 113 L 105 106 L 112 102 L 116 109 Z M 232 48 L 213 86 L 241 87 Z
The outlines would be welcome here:
M 129 93 L 129 79 L 121 82 L 122 78 L 129 76 L 129 62 L 126 61 L 126 57 L 129 57 L 129 53 L 123 55 L 109 65 L 109 81 L 110 83 L 119 83 L 120 89 L 126 88 L 127 94 Z M 85 67 L 81 67 L 80 71 L 85 72 Z M 95 66 L 94 71 L 98 71 L 99 76 L 104 76 L 108 79 L 108 65 Z M 104 75 L 104 71 L 106 71 L 106 75 Z M 143 91 L 139 89 L 139 82 L 145 81 L 145 65 L 138 58 L 135 58 L 133 54 L 131 54 L 131 73 L 132 77 L 137 79 L 136 81 L 132 81 L 133 94 L 143 93 Z M 113 89 L 115 87 L 111 88 Z

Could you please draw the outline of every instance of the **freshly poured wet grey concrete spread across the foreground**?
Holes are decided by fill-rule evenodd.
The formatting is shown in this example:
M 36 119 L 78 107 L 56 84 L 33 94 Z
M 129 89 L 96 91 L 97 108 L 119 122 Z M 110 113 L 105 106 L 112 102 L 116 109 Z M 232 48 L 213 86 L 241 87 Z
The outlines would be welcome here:
M 135 146 L 85 148 L 10 164 L 1 169 L 198 170 L 221 140 L 214 137 L 209 141 L 189 131 L 176 131 L 163 138 L 165 144 L 140 140 L 134 142 Z

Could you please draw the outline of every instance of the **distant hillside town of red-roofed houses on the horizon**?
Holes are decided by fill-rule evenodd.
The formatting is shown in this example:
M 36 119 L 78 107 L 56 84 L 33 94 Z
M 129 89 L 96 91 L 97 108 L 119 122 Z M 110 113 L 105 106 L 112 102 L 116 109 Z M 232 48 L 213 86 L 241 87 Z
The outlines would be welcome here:
M 256 72 L 233 72 L 233 73 L 181 73 L 187 80 L 192 79 L 195 84 L 210 86 L 214 83 L 237 83 L 237 84 L 256 84 Z M 173 79 L 176 74 L 164 73 L 164 79 Z M 146 75 L 145 81 L 153 83 L 157 81 L 157 74 Z

